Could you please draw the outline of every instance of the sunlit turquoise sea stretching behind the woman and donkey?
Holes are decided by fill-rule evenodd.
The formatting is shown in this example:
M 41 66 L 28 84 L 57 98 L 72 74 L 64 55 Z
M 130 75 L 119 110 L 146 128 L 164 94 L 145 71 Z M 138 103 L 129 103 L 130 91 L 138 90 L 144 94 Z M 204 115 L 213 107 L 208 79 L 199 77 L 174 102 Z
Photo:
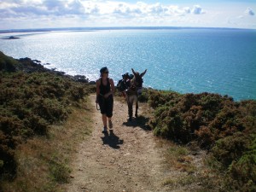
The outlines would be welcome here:
M 1 34 L 9 36 L 10 34 Z M 108 66 L 117 82 L 131 67 L 148 73 L 144 86 L 256 99 L 256 31 L 224 29 L 17 33 L 0 50 L 95 80 Z

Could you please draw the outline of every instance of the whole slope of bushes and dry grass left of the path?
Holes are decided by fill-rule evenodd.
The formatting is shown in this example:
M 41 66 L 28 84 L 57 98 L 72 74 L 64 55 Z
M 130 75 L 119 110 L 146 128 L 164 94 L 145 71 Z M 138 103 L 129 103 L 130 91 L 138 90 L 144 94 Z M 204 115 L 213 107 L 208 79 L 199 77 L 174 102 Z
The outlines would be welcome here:
M 0 52 L 0 191 L 55 191 L 68 181 L 70 149 L 90 131 L 90 88 L 20 66 Z

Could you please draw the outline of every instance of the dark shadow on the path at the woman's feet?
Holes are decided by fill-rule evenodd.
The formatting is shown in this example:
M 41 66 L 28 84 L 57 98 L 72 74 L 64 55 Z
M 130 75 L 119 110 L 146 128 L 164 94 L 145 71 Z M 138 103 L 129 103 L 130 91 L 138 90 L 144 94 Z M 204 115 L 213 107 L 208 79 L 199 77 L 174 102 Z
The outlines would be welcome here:
M 114 135 L 113 133 L 113 130 L 110 130 L 109 131 L 109 134 L 108 132 L 104 134 L 104 137 L 101 137 L 102 138 L 102 142 L 104 145 L 109 145 L 110 148 L 120 148 L 119 145 L 123 144 L 124 143 L 124 140 L 122 139 L 119 139 L 119 137 L 117 137 L 116 135 Z

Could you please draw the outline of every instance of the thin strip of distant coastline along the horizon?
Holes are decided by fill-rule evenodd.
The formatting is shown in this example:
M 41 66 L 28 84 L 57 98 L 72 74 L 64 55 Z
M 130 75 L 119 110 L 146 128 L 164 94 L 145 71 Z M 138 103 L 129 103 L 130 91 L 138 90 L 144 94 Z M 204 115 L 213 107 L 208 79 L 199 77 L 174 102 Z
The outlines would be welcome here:
M 12 32 L 61 32 L 61 31 L 103 31 L 103 30 L 184 30 L 184 29 L 218 29 L 218 30 L 250 30 L 246 28 L 195 27 L 195 26 L 110 26 L 110 27 L 62 27 L 34 29 L 3 29 L 0 33 Z

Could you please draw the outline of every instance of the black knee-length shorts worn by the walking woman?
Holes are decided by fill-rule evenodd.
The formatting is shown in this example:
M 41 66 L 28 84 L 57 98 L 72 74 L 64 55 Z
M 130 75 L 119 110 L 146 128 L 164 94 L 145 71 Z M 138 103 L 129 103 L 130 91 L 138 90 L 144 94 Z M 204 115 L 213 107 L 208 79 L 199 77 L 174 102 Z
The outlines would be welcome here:
M 106 114 L 107 117 L 113 116 L 113 95 L 104 98 L 104 96 L 99 96 L 98 102 L 101 108 L 101 113 Z

